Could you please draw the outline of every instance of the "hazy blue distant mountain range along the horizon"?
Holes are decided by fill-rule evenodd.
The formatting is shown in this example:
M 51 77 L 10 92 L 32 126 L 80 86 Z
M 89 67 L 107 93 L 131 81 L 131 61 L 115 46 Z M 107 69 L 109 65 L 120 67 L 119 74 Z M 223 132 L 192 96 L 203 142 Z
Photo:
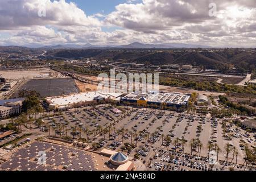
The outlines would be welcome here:
M 195 44 L 181 44 L 181 43 L 165 43 L 165 44 L 142 44 L 139 42 L 134 42 L 127 45 L 122 46 L 97 46 L 93 44 L 85 44 L 85 45 L 76 45 L 76 44 L 65 44 L 65 45 L 53 45 L 53 46 L 44 46 L 40 47 L 43 49 L 67 49 L 67 48 L 79 48 L 79 49 L 88 49 L 88 48 L 126 48 L 126 49 L 134 49 L 134 48 L 210 48 L 210 46 L 201 46 Z

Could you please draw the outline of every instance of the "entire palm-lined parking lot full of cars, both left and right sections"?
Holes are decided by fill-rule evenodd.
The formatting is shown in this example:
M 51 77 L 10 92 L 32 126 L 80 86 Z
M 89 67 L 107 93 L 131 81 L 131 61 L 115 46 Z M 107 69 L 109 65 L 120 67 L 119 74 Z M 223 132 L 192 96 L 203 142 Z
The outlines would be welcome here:
M 115 114 L 113 109 L 121 113 Z M 35 129 L 37 135 L 89 139 L 93 150 L 108 147 L 127 152 L 141 159 L 148 170 L 223 170 L 241 169 L 244 147 L 255 147 L 253 134 L 247 134 L 236 125 L 214 118 L 210 114 L 176 113 L 155 109 L 135 109 L 128 106 L 79 107 L 43 118 L 43 125 Z M 109 130 L 109 124 L 112 125 Z M 50 129 L 50 131 L 48 131 Z M 102 132 L 104 131 L 105 132 Z M 40 131 L 39 131 L 40 130 Z M 101 130 L 101 134 L 99 131 Z M 31 136 L 32 137 L 32 136 Z M 199 150 L 191 141 L 200 140 Z M 175 143 L 177 140 L 177 143 Z M 185 140 L 185 142 L 181 142 Z M 217 144 L 220 152 L 212 149 L 208 156 L 208 143 Z M 233 151 L 226 160 L 225 144 L 236 147 L 237 164 Z M 238 167 L 238 168 L 237 168 Z

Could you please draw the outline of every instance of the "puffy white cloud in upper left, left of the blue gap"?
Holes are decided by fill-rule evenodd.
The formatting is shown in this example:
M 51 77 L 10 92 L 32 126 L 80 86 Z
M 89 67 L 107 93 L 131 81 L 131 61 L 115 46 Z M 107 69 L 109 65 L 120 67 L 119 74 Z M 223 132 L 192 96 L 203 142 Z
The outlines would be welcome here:
M 75 3 L 64 0 L 44 0 L 46 17 L 40 17 L 38 12 L 43 9 L 42 0 L 7 0 L 1 1 L 0 29 L 15 29 L 26 26 L 100 26 L 101 22 L 92 16 L 86 16 Z

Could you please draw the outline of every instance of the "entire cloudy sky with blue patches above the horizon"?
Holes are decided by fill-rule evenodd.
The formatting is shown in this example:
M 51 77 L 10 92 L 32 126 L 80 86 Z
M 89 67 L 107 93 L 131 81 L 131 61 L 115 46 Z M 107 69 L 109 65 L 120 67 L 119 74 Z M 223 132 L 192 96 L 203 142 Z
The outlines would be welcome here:
M 0 0 L 0 46 L 256 47 L 255 0 Z

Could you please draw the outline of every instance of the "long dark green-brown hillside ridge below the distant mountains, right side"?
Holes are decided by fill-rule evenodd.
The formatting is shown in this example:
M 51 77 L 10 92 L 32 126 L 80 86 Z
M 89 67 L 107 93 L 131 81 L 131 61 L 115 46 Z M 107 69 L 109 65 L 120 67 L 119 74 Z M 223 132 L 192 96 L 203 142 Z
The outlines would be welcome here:
M 50 56 L 70 59 L 89 58 L 109 59 L 110 61 L 124 60 L 139 64 L 191 64 L 206 69 L 225 69 L 233 65 L 241 72 L 254 71 L 256 67 L 256 52 L 245 52 L 239 49 L 223 49 L 220 52 L 172 50 L 143 50 L 143 49 L 61 49 L 50 51 Z

